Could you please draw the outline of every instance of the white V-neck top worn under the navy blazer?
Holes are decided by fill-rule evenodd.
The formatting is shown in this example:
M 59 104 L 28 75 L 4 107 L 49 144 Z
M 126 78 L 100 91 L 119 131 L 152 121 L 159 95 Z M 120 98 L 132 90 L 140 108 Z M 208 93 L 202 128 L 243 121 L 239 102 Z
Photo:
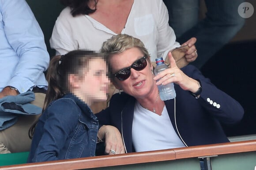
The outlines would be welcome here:
M 185 147 L 173 128 L 166 106 L 159 116 L 139 102 L 134 107 L 132 143 L 136 152 Z

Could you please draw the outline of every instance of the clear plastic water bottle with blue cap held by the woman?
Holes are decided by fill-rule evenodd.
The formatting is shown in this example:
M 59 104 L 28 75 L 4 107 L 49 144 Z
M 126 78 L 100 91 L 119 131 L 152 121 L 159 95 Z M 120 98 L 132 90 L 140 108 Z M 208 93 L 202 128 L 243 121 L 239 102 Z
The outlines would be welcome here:
M 156 61 L 156 67 L 154 69 L 154 75 L 159 74 L 165 69 L 169 69 L 169 67 L 164 63 L 163 58 L 159 57 L 155 59 Z M 159 90 L 159 96 L 162 101 L 164 100 L 170 100 L 176 97 L 176 92 L 174 89 L 173 83 L 168 83 L 166 85 L 158 85 Z

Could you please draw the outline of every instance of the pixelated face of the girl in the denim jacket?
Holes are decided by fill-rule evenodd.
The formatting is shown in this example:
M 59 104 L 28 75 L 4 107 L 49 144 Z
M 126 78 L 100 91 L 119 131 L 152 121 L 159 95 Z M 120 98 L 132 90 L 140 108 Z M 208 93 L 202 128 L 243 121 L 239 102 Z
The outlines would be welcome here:
M 88 105 L 93 101 L 106 100 L 110 84 L 106 62 L 101 58 L 91 59 L 83 71 L 84 74 L 79 80 L 76 95 Z

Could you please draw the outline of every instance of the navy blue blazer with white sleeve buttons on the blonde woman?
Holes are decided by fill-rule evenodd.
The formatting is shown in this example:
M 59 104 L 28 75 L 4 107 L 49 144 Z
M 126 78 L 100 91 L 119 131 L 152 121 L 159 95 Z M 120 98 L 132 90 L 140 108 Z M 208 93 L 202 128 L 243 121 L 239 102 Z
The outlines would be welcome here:
M 200 98 L 196 99 L 189 91 L 174 84 L 176 114 L 174 99 L 165 101 L 165 105 L 177 135 L 186 146 L 229 142 L 221 123 L 239 122 L 244 115 L 244 109 L 236 100 L 215 87 L 196 67 L 188 65 L 181 70 L 189 77 L 200 80 L 202 92 Z M 114 94 L 109 107 L 96 114 L 100 124 L 118 128 L 127 152 L 134 152 L 132 122 L 135 102 L 135 98 L 124 92 Z

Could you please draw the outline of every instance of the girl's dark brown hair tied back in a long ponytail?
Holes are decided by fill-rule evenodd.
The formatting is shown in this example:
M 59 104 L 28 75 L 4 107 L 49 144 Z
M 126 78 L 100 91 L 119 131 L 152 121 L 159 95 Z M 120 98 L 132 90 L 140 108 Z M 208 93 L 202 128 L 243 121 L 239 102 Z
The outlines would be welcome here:
M 68 75 L 82 75 L 84 68 L 87 67 L 90 59 L 100 57 L 105 60 L 102 53 L 95 51 L 75 50 L 65 55 L 57 55 L 50 61 L 46 75 L 48 81 L 48 89 L 45 95 L 45 101 L 42 112 L 53 101 L 62 98 L 64 94 L 69 92 Z M 36 122 L 37 123 L 37 122 Z M 36 123 L 29 130 L 29 137 L 32 139 Z

